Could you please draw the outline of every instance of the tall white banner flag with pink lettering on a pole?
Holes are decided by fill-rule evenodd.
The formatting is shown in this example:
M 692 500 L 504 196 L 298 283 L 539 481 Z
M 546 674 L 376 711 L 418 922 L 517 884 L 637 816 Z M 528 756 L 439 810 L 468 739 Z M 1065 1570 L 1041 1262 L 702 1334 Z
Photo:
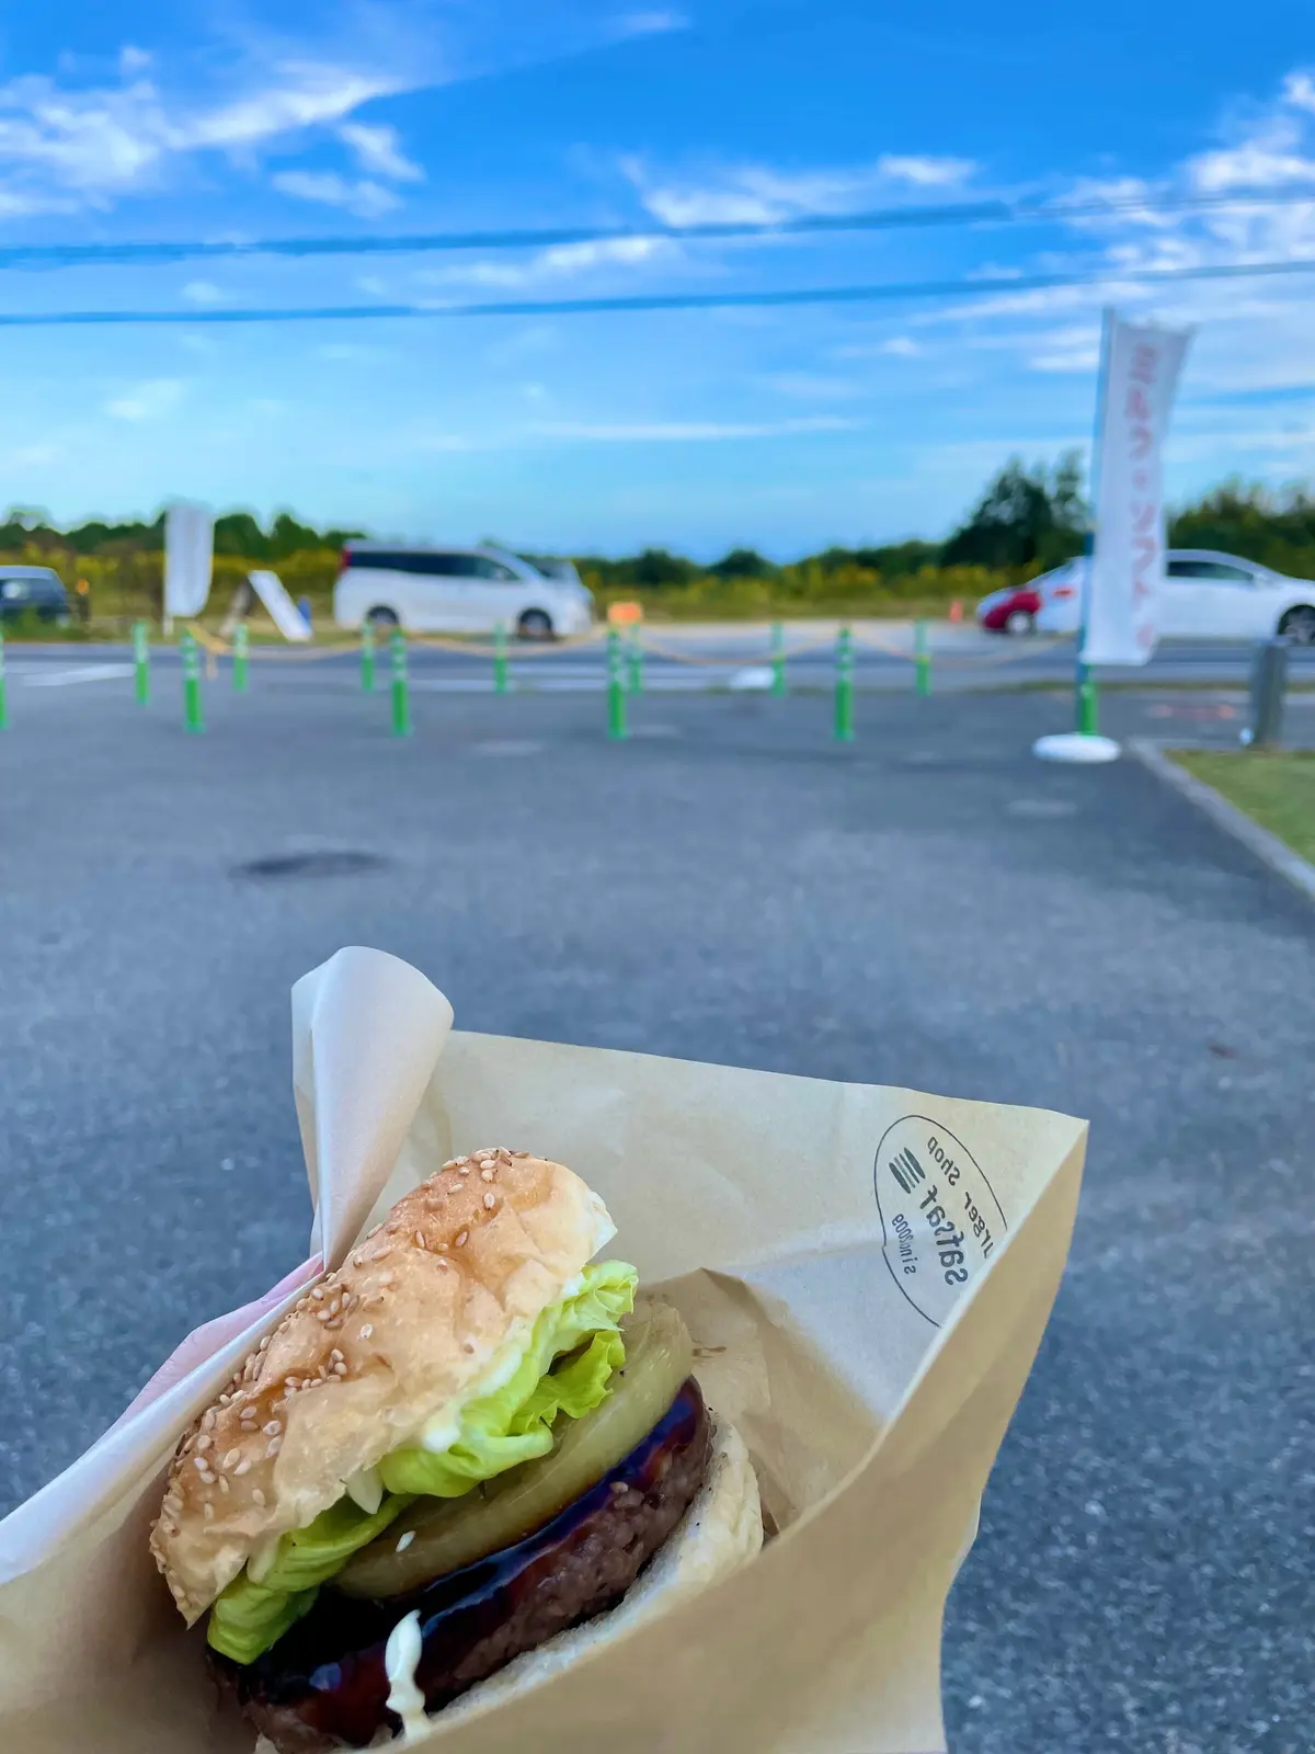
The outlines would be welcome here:
M 1105 314 L 1096 549 L 1087 567 L 1084 663 L 1147 663 L 1164 582 L 1161 446 L 1192 330 Z

